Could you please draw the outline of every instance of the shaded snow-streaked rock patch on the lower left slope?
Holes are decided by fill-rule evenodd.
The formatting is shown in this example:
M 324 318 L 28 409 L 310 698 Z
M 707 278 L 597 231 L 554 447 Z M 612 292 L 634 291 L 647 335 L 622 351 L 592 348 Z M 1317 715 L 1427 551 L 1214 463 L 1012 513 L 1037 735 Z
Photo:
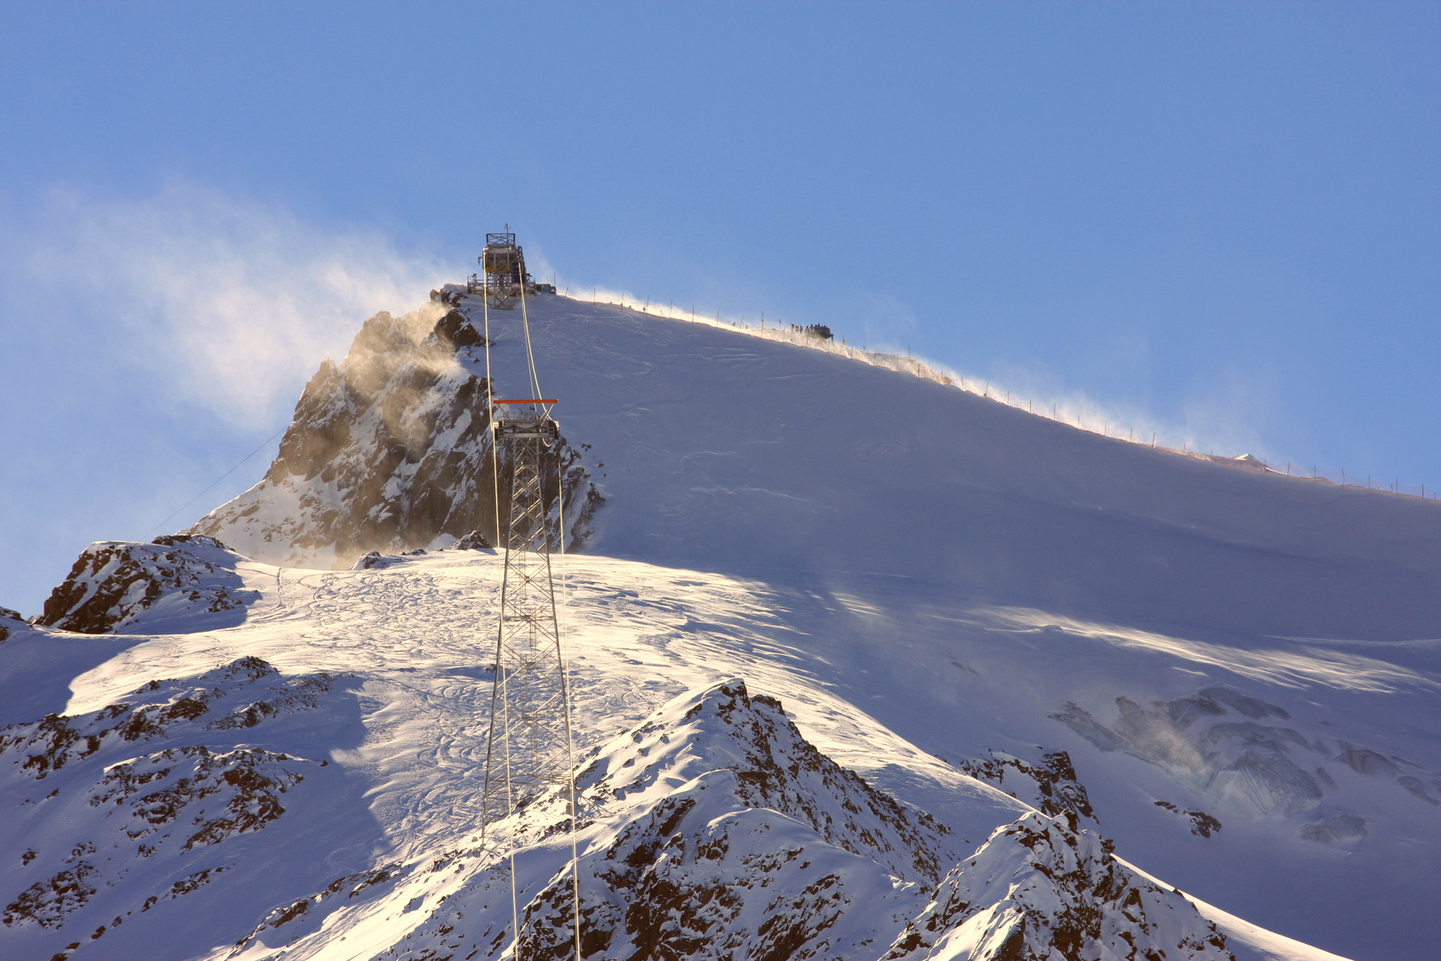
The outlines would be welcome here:
M 0 729 L 0 834 L 23 849 L 29 886 L 0 892 L 7 929 L 59 929 L 180 898 L 235 866 L 228 841 L 285 814 L 287 794 L 326 761 L 244 741 L 320 706 L 327 674 L 282 677 L 256 657 L 156 680 L 97 712 Z M 242 741 L 244 739 L 244 741 Z M 26 831 L 42 810 L 46 831 Z M 121 879 L 125 880 L 120 885 Z M 92 905 L 92 902 L 104 906 Z M 85 928 L 89 931 L 89 926 Z M 45 955 L 42 955 L 45 957 Z

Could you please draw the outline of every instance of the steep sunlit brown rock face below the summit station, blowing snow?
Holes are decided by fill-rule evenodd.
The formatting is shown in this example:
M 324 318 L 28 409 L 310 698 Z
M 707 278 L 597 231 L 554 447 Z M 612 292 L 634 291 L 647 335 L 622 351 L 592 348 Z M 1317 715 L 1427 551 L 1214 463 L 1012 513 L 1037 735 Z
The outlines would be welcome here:
M 344 568 L 370 552 L 444 546 L 471 532 L 496 543 L 496 477 L 483 337 L 448 301 L 365 323 L 346 359 L 305 385 L 265 478 L 200 519 L 246 556 Z M 509 462 L 500 450 L 500 499 Z M 546 471 L 558 530 L 565 488 L 568 546 L 584 546 L 602 503 L 581 451 L 563 439 Z M 556 535 L 559 536 L 559 535 Z

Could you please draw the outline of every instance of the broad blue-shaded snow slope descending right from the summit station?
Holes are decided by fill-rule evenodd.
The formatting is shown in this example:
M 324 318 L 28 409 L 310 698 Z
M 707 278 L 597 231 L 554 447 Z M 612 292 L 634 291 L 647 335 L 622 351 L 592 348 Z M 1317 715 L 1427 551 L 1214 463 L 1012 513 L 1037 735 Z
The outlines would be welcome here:
M 1428 954 L 1441 504 L 709 326 L 536 314 L 563 426 L 604 464 L 595 550 L 764 581 L 814 676 L 940 756 L 1068 751 L 1118 850 L 1222 909 Z M 1187 700 L 1209 705 L 1173 720 Z M 1065 723 L 1081 712 L 1124 743 Z

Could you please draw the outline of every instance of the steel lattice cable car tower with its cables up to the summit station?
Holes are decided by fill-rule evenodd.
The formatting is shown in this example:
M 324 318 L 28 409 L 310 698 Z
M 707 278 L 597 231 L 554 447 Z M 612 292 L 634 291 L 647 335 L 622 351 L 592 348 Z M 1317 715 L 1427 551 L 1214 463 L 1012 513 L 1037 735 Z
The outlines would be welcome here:
M 509 225 L 507 225 L 509 226 Z M 555 575 L 550 568 L 550 524 L 545 507 L 549 471 L 559 474 L 561 428 L 550 416 L 556 401 L 540 393 L 530 318 L 526 313 L 529 275 L 514 233 L 487 233 L 480 255 L 486 271 L 486 392 L 493 431 L 490 457 L 496 478 L 496 542 L 504 550 L 500 582 L 500 621 L 496 628 L 496 680 L 490 697 L 490 736 L 486 743 L 486 781 L 481 795 L 481 844 L 487 828 L 520 811 L 542 794 L 556 791 L 571 815 L 571 895 L 574 900 L 575 958 L 581 957 L 581 889 L 575 844 L 575 746 L 571 736 L 571 683 L 566 673 L 561 622 L 556 617 Z M 473 287 L 476 278 L 471 278 Z M 480 292 L 480 291 L 473 291 Z M 520 304 L 529 398 L 496 401 L 490 369 L 490 310 Z M 499 411 L 497 408 L 503 408 Z M 500 455 L 506 448 L 510 497 L 500 504 Z M 558 480 L 561 480 L 558 477 Z M 556 487 L 559 549 L 565 558 L 565 487 Z M 501 517 L 504 513 L 504 517 Z M 504 524 L 501 524 L 504 520 Z M 520 905 L 516 856 L 510 852 L 510 916 L 513 958 L 522 958 Z M 553 951 L 553 948 L 552 948 Z

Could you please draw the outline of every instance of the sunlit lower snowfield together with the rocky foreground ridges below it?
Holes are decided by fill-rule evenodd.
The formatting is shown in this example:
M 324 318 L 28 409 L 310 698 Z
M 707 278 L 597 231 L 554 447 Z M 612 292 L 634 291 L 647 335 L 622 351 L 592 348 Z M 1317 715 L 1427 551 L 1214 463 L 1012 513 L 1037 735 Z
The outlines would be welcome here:
M 500 559 L 235 566 L 264 591 L 244 624 L 202 609 L 167 621 L 187 633 L 115 634 L 65 715 L 0 733 L 0 836 L 16 853 L 0 873 L 6 957 L 494 957 L 509 921 L 497 859 L 514 846 L 539 931 L 527 944 L 553 945 L 533 922 L 565 908 L 562 798 L 477 843 L 490 677 L 474 621 Z M 1022 944 L 1046 957 L 1062 931 L 1062 957 L 1079 961 L 1118 929 L 1141 954 L 1114 957 L 1229 957 L 1210 922 L 1092 830 L 925 756 L 778 650 L 725 654 L 768 620 L 757 585 L 602 558 L 574 560 L 569 579 L 595 957 L 899 957 L 912 928 L 967 924 L 993 935 L 976 958 Z M 676 637 L 690 617 L 706 622 Z M 32 628 L 0 658 L 62 638 Z M 762 686 L 791 700 L 751 693 Z M 827 754 L 880 754 L 872 781 L 944 815 Z M 938 883 L 991 896 L 976 911 L 948 896 L 938 918 Z M 1125 911 L 1098 912 L 1107 900 Z

